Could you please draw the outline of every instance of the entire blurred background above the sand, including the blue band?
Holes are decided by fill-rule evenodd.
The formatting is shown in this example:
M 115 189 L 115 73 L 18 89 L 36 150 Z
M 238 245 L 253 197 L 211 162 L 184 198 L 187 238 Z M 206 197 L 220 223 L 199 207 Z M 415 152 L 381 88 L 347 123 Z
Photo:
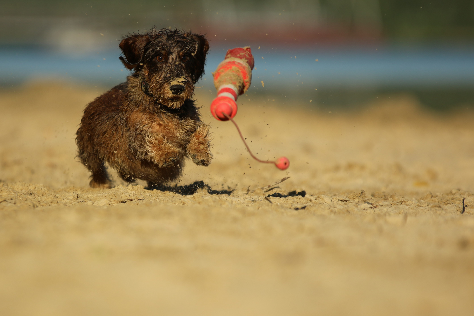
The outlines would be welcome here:
M 250 94 L 321 109 L 410 94 L 428 108 L 474 104 L 474 0 L 2 0 L 0 89 L 125 81 L 122 36 L 151 27 L 207 34 L 197 86 L 228 48 L 251 45 Z M 264 86 L 262 85 L 264 82 Z

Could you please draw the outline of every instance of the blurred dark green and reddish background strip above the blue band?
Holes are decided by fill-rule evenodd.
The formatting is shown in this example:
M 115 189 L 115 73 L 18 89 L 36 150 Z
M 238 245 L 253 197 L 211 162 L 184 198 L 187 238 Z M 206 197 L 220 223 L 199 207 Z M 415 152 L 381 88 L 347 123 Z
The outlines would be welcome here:
M 471 43 L 474 1 L 2 0 L 0 23 L 2 45 L 44 45 L 42 40 L 48 32 L 61 27 L 107 30 L 119 36 L 153 25 L 231 33 L 240 38 L 244 38 L 243 34 L 238 34 L 242 30 L 257 33 L 254 27 L 259 26 L 265 31 L 287 29 L 285 36 L 289 36 L 290 30 L 303 32 L 311 36 L 307 40 L 375 36 L 397 41 L 456 40 Z M 236 29 L 226 29 L 228 27 Z

